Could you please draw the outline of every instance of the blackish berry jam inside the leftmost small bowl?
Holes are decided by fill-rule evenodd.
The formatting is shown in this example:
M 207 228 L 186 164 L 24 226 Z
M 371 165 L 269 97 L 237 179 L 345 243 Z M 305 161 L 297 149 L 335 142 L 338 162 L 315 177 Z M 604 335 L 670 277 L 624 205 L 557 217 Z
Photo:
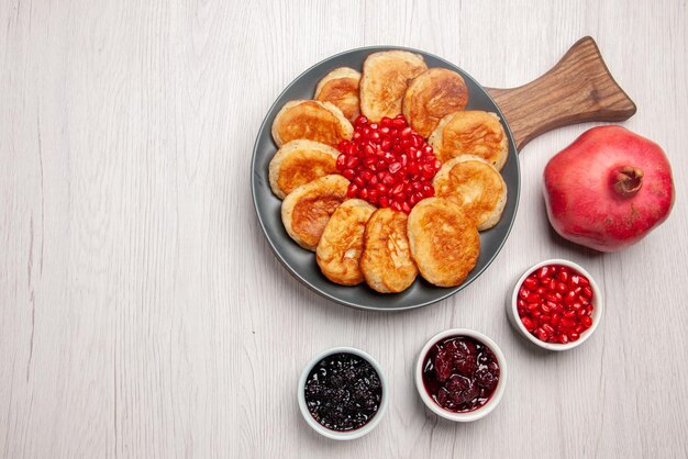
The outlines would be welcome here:
M 353 354 L 333 354 L 306 380 L 306 405 L 315 421 L 336 432 L 357 429 L 378 412 L 382 384 L 375 368 Z

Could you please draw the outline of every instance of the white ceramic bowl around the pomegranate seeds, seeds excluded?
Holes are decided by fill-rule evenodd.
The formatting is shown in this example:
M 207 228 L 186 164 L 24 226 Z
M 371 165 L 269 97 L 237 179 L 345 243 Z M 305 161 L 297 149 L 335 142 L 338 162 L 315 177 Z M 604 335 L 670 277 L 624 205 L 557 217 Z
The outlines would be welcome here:
M 521 322 L 521 317 L 519 317 L 519 311 L 518 311 L 519 288 L 521 287 L 525 278 L 529 277 L 533 271 L 536 271 L 537 269 L 547 265 L 567 266 L 580 272 L 590 281 L 590 288 L 592 289 L 592 305 L 593 305 L 592 315 L 590 316 L 592 318 L 592 325 L 590 325 L 590 328 L 582 332 L 580 334 L 580 337 L 576 342 L 572 342 L 567 344 L 555 344 L 555 343 L 542 342 L 537 339 L 536 336 L 532 335 L 528 329 L 525 329 L 525 326 Z M 577 346 L 580 346 L 590 337 L 590 335 L 595 333 L 595 331 L 597 329 L 602 318 L 603 305 L 604 305 L 604 301 L 602 299 L 602 292 L 600 291 L 600 288 L 598 287 L 597 282 L 595 281 L 595 279 L 592 278 L 592 276 L 590 276 L 588 271 L 586 271 L 580 265 L 577 265 L 573 261 L 568 261 L 565 259 L 561 259 L 561 258 L 554 258 L 551 260 L 539 262 L 537 265 L 534 265 L 525 270 L 523 276 L 521 276 L 519 281 L 513 287 L 513 292 L 511 293 L 511 301 L 507 301 L 507 315 L 509 316 L 509 322 L 511 322 L 511 325 L 518 332 L 520 332 L 521 335 L 523 335 L 529 342 L 533 343 L 535 346 L 539 346 L 539 347 L 542 347 L 543 349 L 548 349 L 548 350 L 568 350 Z

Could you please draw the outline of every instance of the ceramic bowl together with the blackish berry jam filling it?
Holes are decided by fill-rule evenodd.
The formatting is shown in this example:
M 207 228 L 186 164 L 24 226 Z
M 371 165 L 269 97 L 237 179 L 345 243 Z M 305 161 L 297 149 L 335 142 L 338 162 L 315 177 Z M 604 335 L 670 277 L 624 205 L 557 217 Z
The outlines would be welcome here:
M 306 366 L 298 400 L 303 418 L 315 432 L 335 440 L 352 440 L 380 423 L 389 389 L 373 357 L 353 347 L 336 347 Z

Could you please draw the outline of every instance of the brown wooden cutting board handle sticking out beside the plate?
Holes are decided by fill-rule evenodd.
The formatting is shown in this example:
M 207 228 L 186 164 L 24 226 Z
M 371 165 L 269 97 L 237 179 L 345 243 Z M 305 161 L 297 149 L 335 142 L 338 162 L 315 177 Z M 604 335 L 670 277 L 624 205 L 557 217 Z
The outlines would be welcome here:
M 589 36 L 536 80 L 487 91 L 504 114 L 519 150 L 547 131 L 586 121 L 623 121 L 636 110 Z

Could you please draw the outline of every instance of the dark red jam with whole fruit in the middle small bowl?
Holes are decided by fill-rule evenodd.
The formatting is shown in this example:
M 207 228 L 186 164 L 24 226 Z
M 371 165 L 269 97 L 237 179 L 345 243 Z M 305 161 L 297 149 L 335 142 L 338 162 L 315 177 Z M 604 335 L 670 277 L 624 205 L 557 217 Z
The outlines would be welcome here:
M 423 384 L 435 403 L 454 413 L 485 405 L 499 382 L 495 352 L 468 336 L 452 336 L 430 348 L 423 362 Z

